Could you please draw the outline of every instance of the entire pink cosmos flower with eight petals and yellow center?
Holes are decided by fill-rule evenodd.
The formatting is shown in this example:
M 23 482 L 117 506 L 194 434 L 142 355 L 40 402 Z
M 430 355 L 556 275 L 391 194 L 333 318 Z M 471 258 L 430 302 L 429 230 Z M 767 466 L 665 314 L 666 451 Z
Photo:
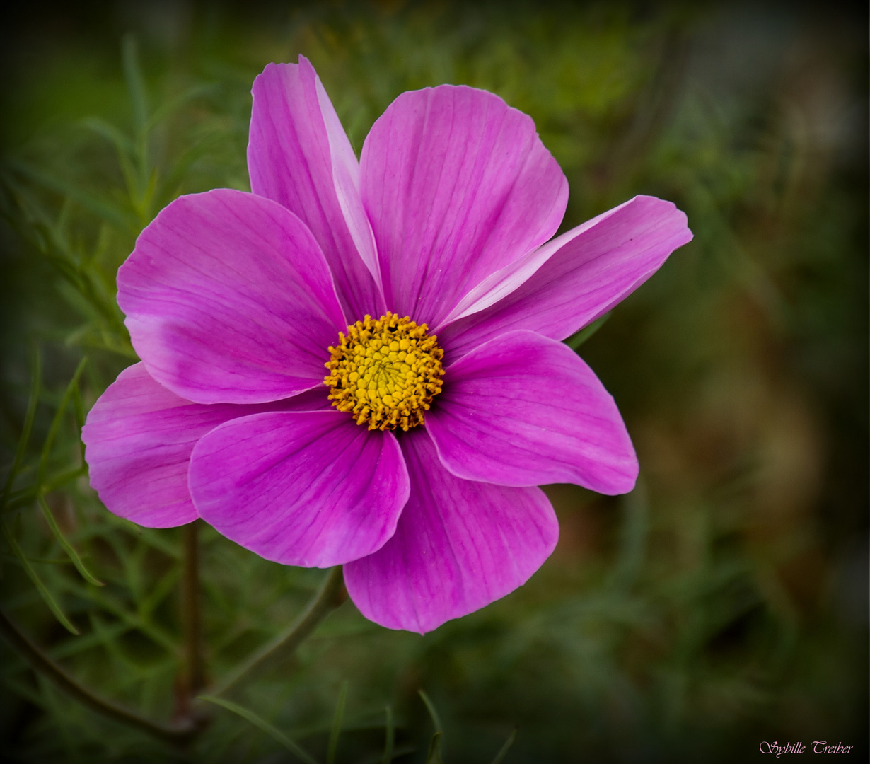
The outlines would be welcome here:
M 304 57 L 253 97 L 253 192 L 178 198 L 118 271 L 142 362 L 88 416 L 91 485 L 142 526 L 344 565 L 367 618 L 425 633 L 546 560 L 536 486 L 632 489 L 619 411 L 560 340 L 692 233 L 635 197 L 548 242 L 566 178 L 484 90 L 403 93 L 359 162 Z

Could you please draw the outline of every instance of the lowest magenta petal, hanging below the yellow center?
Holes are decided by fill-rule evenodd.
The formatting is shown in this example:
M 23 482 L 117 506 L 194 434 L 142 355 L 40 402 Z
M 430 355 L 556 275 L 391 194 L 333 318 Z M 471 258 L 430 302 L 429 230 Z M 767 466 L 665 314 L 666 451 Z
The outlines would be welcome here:
M 425 431 L 403 433 L 402 451 L 411 498 L 383 548 L 345 566 L 345 585 L 367 619 L 425 633 L 525 584 L 559 523 L 539 488 L 454 477 Z

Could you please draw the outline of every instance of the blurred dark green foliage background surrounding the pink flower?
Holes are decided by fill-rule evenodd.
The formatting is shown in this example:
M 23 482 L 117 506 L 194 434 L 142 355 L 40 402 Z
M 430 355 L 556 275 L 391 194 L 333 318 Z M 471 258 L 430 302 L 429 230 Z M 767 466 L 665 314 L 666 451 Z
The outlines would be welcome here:
M 3 495 L 3 610 L 84 684 L 173 713 L 181 533 L 105 511 L 78 424 L 135 360 L 114 280 L 137 232 L 178 194 L 247 189 L 253 77 L 303 53 L 356 151 L 403 90 L 471 84 L 534 118 L 571 186 L 563 230 L 646 193 L 686 211 L 695 238 L 579 351 L 625 416 L 639 487 L 549 487 L 559 546 L 518 592 L 425 637 L 347 603 L 234 700 L 325 761 L 347 687 L 342 764 L 382 761 L 386 706 L 395 761 L 425 761 L 419 689 L 448 764 L 492 761 L 514 729 L 508 764 L 753 761 L 770 758 L 762 741 L 866 756 L 867 10 L 846 8 L 7 10 L 0 480 L 29 401 L 33 426 Z M 324 573 L 200 537 L 214 680 Z M 81 707 L 4 642 L 0 656 L 4 761 L 298 761 L 219 707 L 171 747 Z

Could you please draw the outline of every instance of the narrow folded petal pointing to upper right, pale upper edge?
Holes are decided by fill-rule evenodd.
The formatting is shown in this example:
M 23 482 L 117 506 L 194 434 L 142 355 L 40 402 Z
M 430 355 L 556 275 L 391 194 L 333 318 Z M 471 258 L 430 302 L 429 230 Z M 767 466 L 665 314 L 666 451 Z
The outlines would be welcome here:
M 438 343 L 458 359 L 512 329 L 570 337 L 691 240 L 686 215 L 671 202 L 635 197 L 494 274 L 469 295 L 465 310 L 454 312 L 456 320 L 438 327 Z

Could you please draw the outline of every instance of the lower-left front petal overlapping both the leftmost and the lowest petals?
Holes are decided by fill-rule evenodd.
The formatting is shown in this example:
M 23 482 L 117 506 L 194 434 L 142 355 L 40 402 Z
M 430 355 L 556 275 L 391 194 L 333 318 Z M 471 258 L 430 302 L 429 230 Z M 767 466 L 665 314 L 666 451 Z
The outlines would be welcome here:
M 391 432 L 344 412 L 271 412 L 197 443 L 189 476 L 200 516 L 266 560 L 329 567 L 379 549 L 408 499 Z

